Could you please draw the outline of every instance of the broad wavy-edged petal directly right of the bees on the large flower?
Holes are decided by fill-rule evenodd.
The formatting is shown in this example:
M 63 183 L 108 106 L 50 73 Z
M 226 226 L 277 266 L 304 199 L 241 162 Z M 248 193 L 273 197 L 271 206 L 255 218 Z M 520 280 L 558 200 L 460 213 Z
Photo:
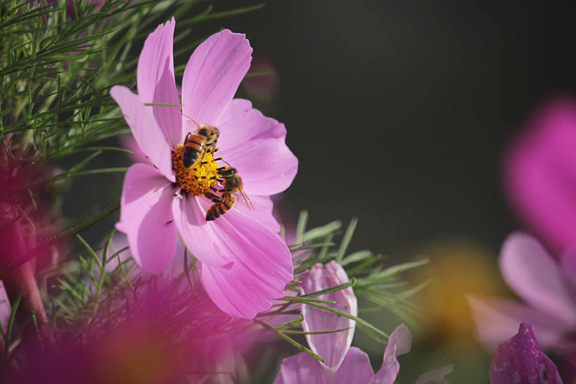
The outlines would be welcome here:
M 290 186 L 298 159 L 286 146 L 284 124 L 242 99 L 232 100 L 221 120 L 219 155 L 238 168 L 247 193 L 275 195 Z

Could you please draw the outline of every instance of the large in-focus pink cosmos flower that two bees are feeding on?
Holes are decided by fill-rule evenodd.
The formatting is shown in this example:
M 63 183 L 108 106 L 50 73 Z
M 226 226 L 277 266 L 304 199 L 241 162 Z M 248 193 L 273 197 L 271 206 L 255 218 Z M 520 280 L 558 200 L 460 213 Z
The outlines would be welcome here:
M 252 48 L 244 35 L 224 30 L 200 44 L 184 71 L 181 112 L 173 106 L 180 104 L 174 28 L 172 18 L 146 39 L 138 62 L 138 94 L 123 86 L 110 92 L 138 146 L 154 164 L 128 169 L 116 227 L 127 234 L 135 261 L 150 273 L 168 267 L 180 236 L 198 259 L 202 285 L 211 299 L 229 315 L 253 318 L 283 296 L 285 284 L 293 279 L 290 252 L 278 235 L 270 195 L 289 187 L 298 161 L 285 144 L 283 124 L 264 117 L 249 101 L 233 99 L 251 61 Z M 215 184 L 220 165 L 207 152 L 206 165 L 199 170 L 181 166 L 177 155 L 184 138 L 198 128 L 191 120 L 218 128 L 218 155 L 237 169 L 255 210 L 239 197 L 225 215 L 206 221 L 213 203 L 203 193 L 221 188 Z

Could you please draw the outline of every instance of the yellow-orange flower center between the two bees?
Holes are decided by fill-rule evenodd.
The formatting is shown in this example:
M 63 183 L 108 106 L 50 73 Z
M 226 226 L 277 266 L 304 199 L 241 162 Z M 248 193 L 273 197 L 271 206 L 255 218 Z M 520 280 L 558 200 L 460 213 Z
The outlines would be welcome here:
M 181 144 L 174 147 L 172 151 L 172 166 L 176 171 L 176 183 L 180 184 L 183 191 L 191 196 L 214 192 L 210 187 L 214 187 L 220 176 L 217 171 L 219 168 L 218 164 L 214 160 L 213 150 L 207 150 L 204 159 L 190 168 L 185 168 L 182 163 L 183 151 L 184 146 Z

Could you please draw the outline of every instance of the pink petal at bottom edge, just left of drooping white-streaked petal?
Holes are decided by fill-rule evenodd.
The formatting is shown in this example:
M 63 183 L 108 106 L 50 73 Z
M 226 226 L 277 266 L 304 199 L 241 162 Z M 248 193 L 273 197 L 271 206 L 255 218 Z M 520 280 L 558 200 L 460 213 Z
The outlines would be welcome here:
M 328 384 L 320 362 L 308 353 L 284 359 L 274 384 Z

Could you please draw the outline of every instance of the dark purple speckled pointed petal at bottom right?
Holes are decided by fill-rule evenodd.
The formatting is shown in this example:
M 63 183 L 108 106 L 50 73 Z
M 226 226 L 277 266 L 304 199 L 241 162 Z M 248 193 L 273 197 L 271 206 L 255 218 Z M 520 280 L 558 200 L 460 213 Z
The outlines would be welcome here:
M 540 349 L 530 324 L 522 322 L 516 336 L 500 344 L 494 354 L 490 383 L 562 384 L 562 379 Z

